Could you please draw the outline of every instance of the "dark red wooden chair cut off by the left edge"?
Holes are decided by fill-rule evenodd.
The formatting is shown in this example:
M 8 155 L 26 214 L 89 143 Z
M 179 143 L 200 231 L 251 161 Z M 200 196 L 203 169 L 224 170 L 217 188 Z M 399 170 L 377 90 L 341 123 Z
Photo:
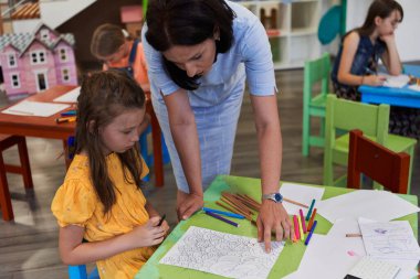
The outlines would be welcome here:
M 2 152 L 15 144 L 18 146 L 21 165 L 6 164 Z M 29 164 L 28 148 L 24 137 L 0 135 L 0 207 L 3 219 L 11 221 L 14 216 L 8 179 L 6 176 L 7 172 L 22 174 L 24 187 L 33 187 L 31 167 Z

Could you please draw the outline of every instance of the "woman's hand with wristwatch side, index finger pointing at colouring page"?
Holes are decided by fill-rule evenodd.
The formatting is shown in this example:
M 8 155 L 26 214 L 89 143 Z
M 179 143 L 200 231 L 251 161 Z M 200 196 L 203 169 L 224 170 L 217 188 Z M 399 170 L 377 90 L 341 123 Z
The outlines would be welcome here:
M 283 204 L 264 200 L 256 218 L 259 242 L 265 244 L 265 251 L 271 251 L 271 232 L 275 232 L 275 239 L 293 239 L 294 229 Z

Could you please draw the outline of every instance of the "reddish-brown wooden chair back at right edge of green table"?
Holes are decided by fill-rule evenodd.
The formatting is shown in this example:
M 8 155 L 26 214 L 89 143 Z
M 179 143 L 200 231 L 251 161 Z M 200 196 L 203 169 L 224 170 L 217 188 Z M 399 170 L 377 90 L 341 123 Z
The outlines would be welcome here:
M 364 173 L 393 193 L 408 194 L 410 155 L 396 153 L 363 135 L 360 130 L 350 131 L 347 187 L 360 189 Z

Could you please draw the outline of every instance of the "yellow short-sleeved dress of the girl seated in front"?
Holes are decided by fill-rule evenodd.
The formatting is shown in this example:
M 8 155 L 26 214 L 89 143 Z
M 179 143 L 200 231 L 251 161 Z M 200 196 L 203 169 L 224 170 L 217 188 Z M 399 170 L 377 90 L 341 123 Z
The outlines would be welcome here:
M 84 238 L 98 242 L 126 234 L 135 226 L 149 219 L 146 212 L 146 198 L 135 184 L 124 181 L 123 168 L 115 153 L 106 158 L 108 174 L 116 186 L 116 203 L 111 214 L 104 215 L 103 205 L 97 198 L 90 179 L 86 155 L 74 157 L 63 185 L 55 193 L 51 210 L 61 227 L 77 225 L 85 228 Z M 141 176 L 148 173 L 141 160 Z M 133 278 L 155 248 L 144 247 L 128 250 L 111 258 L 96 261 L 102 279 Z

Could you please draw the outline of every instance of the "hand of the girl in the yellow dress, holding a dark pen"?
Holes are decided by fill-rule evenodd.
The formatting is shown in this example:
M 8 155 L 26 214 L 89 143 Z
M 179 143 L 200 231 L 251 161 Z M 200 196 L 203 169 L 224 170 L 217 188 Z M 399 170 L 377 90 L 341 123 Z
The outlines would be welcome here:
M 135 227 L 129 234 L 129 242 L 133 248 L 149 247 L 160 244 L 169 228 L 166 222 L 161 226 L 157 226 L 160 217 L 151 217 L 145 225 Z M 166 223 L 166 226 L 164 224 Z

